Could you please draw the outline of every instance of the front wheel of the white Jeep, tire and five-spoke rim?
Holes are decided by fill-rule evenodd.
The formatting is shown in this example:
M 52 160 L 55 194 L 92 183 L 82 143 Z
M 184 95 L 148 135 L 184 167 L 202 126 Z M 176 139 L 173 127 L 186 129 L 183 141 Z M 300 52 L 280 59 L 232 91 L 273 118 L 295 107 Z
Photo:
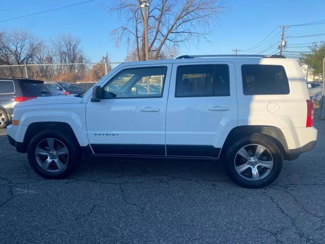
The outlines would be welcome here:
M 45 178 L 57 179 L 77 169 L 81 150 L 73 133 L 46 130 L 31 139 L 27 156 L 36 173 Z

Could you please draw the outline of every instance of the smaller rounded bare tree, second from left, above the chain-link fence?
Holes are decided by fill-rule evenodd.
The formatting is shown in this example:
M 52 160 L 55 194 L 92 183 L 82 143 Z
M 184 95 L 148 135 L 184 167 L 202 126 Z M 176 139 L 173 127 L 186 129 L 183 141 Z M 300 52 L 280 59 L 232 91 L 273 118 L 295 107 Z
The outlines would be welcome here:
M 59 35 L 51 41 L 56 61 L 62 64 L 84 63 L 85 54 L 80 39 L 72 35 Z

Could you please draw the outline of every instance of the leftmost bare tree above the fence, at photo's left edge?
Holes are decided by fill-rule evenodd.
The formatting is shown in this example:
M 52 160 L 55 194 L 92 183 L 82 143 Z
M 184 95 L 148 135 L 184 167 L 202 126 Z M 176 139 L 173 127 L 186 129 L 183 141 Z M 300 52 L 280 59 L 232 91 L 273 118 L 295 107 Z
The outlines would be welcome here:
M 43 42 L 25 31 L 2 32 L 0 35 L 0 59 L 7 65 L 33 62 Z

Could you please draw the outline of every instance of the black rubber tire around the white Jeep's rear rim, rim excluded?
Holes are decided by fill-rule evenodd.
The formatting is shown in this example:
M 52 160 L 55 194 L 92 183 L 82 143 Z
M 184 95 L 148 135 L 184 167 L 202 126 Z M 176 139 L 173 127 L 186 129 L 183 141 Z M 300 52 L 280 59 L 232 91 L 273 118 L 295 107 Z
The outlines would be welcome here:
M 237 173 L 235 169 L 234 161 L 238 150 L 249 144 L 259 144 L 265 146 L 272 154 L 273 168 L 271 172 L 261 180 L 252 181 L 244 179 Z M 264 138 L 263 136 L 249 136 L 242 138 L 229 148 L 224 163 L 226 165 L 226 170 L 229 176 L 236 182 L 236 184 L 245 188 L 263 188 L 272 184 L 272 182 L 279 176 L 282 169 L 282 162 L 283 157 L 281 150 L 273 140 L 267 137 Z

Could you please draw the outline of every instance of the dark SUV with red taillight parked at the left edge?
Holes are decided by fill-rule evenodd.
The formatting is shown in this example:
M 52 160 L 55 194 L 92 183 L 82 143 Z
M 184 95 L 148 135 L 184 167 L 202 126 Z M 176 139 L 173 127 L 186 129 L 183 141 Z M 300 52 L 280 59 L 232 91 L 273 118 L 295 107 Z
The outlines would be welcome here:
M 49 96 L 53 95 L 41 80 L 14 77 L 0 78 L 0 129 L 11 124 L 16 103 Z

